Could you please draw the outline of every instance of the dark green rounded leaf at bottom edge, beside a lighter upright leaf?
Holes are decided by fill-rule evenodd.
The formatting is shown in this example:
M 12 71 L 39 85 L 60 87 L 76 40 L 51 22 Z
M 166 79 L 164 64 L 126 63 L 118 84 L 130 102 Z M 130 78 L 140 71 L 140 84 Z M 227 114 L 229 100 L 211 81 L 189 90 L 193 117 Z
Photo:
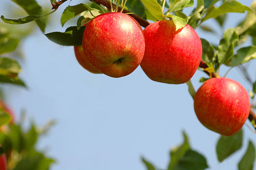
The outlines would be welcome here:
M 204 170 L 208 167 L 206 159 L 194 150 L 187 150 L 185 155 L 179 159 L 174 170 Z

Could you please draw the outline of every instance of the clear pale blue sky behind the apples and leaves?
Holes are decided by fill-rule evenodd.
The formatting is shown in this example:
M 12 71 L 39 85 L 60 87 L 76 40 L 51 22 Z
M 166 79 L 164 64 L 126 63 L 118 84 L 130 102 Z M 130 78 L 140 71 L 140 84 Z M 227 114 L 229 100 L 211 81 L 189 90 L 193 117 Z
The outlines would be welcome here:
M 73 0 L 70 5 L 80 2 L 83 1 Z M 250 5 L 252 0 L 240 2 Z M 50 1 L 38 3 L 51 8 Z M 0 7 L 0 14 L 6 18 L 10 17 L 5 7 L 10 4 L 13 5 L 3 0 Z M 53 20 L 47 25 L 46 33 L 63 31 L 74 24 L 75 20 L 61 28 L 60 16 L 67 5 L 68 2 L 51 14 Z M 192 8 L 185 12 L 190 10 Z M 243 17 L 245 14 L 228 15 L 225 29 L 236 26 Z M 213 19 L 204 25 L 212 25 L 216 36 L 209 36 L 199 28 L 196 29 L 198 35 L 218 44 L 223 30 Z M 49 156 L 56 158 L 57 163 L 51 170 L 143 170 L 141 156 L 165 168 L 169 150 L 183 141 L 183 130 L 189 136 L 192 149 L 207 158 L 209 170 L 237 169 L 235 162 L 246 151 L 248 140 L 256 146 L 255 134 L 244 126 L 242 149 L 218 163 L 215 145 L 220 135 L 200 124 L 186 84 L 151 81 L 140 66 L 132 74 L 118 79 L 91 74 L 77 63 L 73 47 L 52 43 L 38 28 L 21 46 L 25 60 L 20 61 L 23 68 L 20 77 L 28 89 L 4 86 L 7 103 L 18 116 L 25 109 L 28 117 L 39 125 L 56 119 L 57 124 L 38 144 L 39 149 L 46 149 Z M 253 79 L 256 78 L 255 64 L 253 61 L 246 65 Z M 222 76 L 226 71 L 227 68 L 221 66 Z M 195 89 L 200 87 L 202 76 L 207 77 L 197 71 L 192 77 Z M 232 69 L 227 77 L 251 89 L 238 69 Z

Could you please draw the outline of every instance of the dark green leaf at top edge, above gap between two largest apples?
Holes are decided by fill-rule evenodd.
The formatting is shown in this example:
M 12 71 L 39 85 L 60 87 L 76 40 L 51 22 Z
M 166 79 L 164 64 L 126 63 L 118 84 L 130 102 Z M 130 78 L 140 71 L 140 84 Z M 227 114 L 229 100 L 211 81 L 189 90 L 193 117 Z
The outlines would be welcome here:
M 128 0 L 125 6 L 128 8 L 128 10 L 140 16 L 141 18 L 147 19 L 145 11 L 146 8 L 143 3 L 141 3 L 141 0 Z

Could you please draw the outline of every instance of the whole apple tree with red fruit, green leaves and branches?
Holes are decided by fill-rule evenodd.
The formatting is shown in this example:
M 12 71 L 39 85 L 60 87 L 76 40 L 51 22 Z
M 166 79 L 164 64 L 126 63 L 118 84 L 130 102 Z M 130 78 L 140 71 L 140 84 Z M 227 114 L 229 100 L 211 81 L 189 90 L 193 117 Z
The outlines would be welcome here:
M 12 56 L 10 52 L 17 51 L 20 40 L 36 28 L 18 30 L 15 25 L 36 22 L 44 33 L 46 19 L 51 19 L 60 5 L 67 5 L 60 17 L 61 26 L 72 18 L 77 18 L 76 24 L 64 32 L 44 35 L 61 46 L 74 46 L 75 56 L 84 71 L 119 78 L 131 74 L 140 65 L 152 81 L 177 86 L 186 83 L 199 121 L 221 135 L 215 146 L 219 162 L 241 149 L 241 128 L 247 119 L 250 124 L 246 128 L 256 133 L 256 81 L 244 65 L 256 58 L 256 1 L 248 7 L 236 0 L 91 0 L 76 5 L 65 3 L 68 0 L 50 0 L 47 8 L 52 11 L 49 13 L 44 13 L 36 0 L 12 1 L 28 15 L 18 16 L 18 19 L 1 15 L 4 22 L 0 25 L 1 83 L 26 88 L 19 79 L 19 53 Z M 190 13 L 184 12 L 187 8 L 192 8 Z M 219 44 L 197 35 L 195 30 L 200 28 L 214 36 L 212 28 L 202 23 L 216 20 L 223 27 L 227 13 L 245 13 L 244 20 L 234 28 L 223 30 Z M 228 71 L 221 76 L 224 66 Z M 225 78 L 234 67 L 239 68 L 251 84 L 250 90 Z M 205 77 L 198 80 L 202 86 L 197 91 L 190 81 L 196 71 L 205 73 Z M 1 170 L 49 169 L 54 160 L 38 151 L 35 144 L 52 122 L 43 128 L 32 122 L 26 131 L 23 117 L 13 121 L 15 116 L 4 104 L 3 96 L 0 109 Z M 203 153 L 191 148 L 185 132 L 183 137 L 184 142 L 170 151 L 165 169 L 204 170 L 211 167 Z M 255 147 L 251 140 L 247 143 L 246 152 L 236 162 L 238 170 L 254 167 Z M 142 162 L 147 170 L 159 169 L 145 157 Z

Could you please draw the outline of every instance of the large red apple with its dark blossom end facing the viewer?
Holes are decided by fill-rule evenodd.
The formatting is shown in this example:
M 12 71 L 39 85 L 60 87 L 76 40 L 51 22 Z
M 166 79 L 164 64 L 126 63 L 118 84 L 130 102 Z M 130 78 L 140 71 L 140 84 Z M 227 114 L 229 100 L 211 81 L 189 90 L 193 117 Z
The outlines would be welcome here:
M 145 51 L 141 26 L 129 15 L 116 12 L 93 18 L 84 30 L 82 44 L 90 63 L 115 78 L 131 74 Z

